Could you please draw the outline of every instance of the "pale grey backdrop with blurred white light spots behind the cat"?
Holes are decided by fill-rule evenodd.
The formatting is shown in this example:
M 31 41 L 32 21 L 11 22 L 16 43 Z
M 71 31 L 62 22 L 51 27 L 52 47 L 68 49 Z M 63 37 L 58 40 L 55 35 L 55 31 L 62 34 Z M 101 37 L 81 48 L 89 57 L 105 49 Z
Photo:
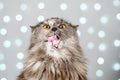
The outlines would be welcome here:
M 88 80 L 120 80 L 120 0 L 0 0 L 0 80 L 16 80 L 29 26 L 50 17 L 80 26 Z

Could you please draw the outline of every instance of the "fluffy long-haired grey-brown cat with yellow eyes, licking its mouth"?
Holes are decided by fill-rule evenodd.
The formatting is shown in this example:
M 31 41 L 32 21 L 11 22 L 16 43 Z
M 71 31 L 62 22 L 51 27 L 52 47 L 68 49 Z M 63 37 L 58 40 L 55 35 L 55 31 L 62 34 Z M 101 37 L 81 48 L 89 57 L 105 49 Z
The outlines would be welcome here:
M 28 57 L 17 80 L 87 80 L 77 26 L 55 17 L 31 28 Z

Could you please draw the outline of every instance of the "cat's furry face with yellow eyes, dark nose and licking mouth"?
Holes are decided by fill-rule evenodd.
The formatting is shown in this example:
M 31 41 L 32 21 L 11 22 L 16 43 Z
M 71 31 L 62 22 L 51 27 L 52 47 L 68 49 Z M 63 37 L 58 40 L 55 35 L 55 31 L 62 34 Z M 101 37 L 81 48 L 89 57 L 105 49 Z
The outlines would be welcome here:
M 76 26 L 60 18 L 45 20 L 32 28 L 33 42 L 48 42 L 59 48 L 60 42 L 65 42 L 76 34 Z

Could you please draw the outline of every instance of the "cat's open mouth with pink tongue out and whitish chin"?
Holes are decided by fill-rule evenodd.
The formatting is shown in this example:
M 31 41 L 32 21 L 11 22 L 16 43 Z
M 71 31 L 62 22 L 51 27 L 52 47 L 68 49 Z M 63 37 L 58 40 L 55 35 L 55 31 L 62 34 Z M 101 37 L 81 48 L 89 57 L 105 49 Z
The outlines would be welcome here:
M 49 36 L 47 40 L 52 45 L 52 47 L 60 48 L 61 40 L 58 35 L 54 34 L 52 36 Z

